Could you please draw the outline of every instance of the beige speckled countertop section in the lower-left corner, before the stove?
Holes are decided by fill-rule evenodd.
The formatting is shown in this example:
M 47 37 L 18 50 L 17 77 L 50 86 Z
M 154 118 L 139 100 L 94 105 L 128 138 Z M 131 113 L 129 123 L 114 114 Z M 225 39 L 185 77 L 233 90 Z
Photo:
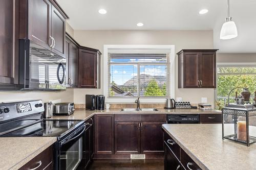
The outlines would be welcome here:
M 22 167 L 56 140 L 56 137 L 1 137 L 0 169 Z

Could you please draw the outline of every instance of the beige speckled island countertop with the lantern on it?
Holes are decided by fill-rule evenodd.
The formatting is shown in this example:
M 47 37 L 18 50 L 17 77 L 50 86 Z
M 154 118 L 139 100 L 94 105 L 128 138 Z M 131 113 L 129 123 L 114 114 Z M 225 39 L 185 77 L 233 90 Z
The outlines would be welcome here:
M 256 143 L 246 147 L 222 140 L 221 124 L 164 124 L 162 128 L 202 169 L 256 169 Z

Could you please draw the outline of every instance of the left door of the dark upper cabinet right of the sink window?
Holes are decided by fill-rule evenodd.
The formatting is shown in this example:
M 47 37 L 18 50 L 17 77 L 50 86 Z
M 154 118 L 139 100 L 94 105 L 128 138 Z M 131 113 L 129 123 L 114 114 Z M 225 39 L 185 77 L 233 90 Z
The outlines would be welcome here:
M 185 52 L 184 53 L 184 88 L 199 87 L 199 64 L 200 53 Z

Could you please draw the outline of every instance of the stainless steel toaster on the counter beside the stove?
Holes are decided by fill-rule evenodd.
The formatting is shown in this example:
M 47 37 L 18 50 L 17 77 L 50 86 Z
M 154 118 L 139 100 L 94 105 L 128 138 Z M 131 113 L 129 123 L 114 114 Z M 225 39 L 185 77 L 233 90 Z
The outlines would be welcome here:
M 55 103 L 53 105 L 54 115 L 70 115 L 75 111 L 74 103 Z

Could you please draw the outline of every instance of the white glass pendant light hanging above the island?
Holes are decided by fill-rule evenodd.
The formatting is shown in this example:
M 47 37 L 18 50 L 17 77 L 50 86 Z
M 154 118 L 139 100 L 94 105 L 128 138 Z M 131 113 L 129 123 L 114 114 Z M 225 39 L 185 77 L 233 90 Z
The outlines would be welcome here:
M 232 21 L 232 17 L 229 16 L 229 0 L 227 0 L 227 18 L 221 28 L 220 39 L 232 39 L 238 36 L 238 30 L 236 23 Z

